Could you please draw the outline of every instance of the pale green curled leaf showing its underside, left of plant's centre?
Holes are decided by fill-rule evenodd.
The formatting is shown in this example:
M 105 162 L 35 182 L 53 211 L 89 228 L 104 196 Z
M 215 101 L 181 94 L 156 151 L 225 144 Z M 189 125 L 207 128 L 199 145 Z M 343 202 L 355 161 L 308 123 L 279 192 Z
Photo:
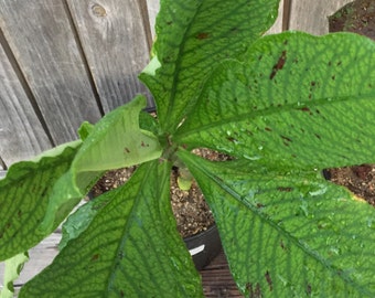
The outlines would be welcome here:
M 146 107 L 144 96 L 107 114 L 95 127 L 84 125 L 86 137 L 72 167 L 57 182 L 50 198 L 46 215 L 39 226 L 42 234 L 64 220 L 106 170 L 138 164 L 161 155 L 156 136 L 139 127 L 139 114 Z M 150 119 L 142 116 L 144 126 Z

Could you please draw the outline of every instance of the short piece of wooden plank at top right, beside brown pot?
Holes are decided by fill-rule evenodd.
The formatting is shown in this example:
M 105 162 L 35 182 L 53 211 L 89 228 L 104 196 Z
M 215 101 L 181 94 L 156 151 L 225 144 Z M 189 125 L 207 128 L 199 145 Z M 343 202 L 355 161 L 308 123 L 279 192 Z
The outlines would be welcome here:
M 291 0 L 290 30 L 321 35 L 328 33 L 328 17 L 353 0 Z

